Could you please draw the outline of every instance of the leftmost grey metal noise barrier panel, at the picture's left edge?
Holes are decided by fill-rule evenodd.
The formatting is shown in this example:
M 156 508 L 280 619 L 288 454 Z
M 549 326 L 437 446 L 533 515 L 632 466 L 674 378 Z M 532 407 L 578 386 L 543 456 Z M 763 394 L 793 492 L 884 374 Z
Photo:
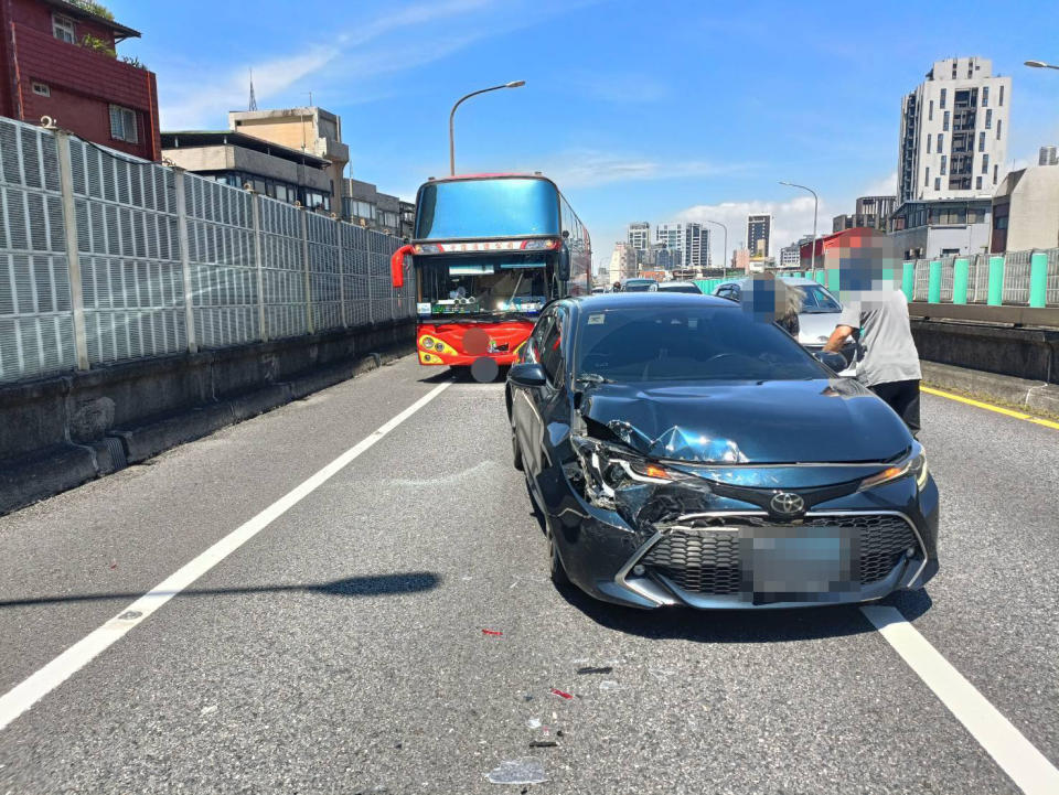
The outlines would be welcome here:
M 55 138 L 0 119 L 0 382 L 75 365 Z

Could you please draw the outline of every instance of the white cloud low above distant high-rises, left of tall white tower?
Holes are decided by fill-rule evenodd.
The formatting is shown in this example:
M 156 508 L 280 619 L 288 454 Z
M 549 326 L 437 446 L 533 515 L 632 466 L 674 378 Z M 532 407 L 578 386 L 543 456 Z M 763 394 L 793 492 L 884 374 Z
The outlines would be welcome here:
M 707 224 L 710 230 L 710 253 L 715 265 L 727 262 L 731 258 L 731 250 L 746 246 L 747 216 L 756 213 L 772 215 L 772 237 L 770 254 L 779 256 L 780 248 L 798 240 L 802 235 L 813 234 L 813 198 L 798 196 L 788 202 L 721 202 L 720 204 L 697 204 L 687 207 L 674 216 L 674 221 L 714 221 L 728 227 L 728 251 L 721 254 L 724 232 L 715 224 Z M 831 218 L 835 213 L 831 206 L 821 201 L 816 233 L 831 234 Z M 660 219 L 665 221 L 665 219 Z

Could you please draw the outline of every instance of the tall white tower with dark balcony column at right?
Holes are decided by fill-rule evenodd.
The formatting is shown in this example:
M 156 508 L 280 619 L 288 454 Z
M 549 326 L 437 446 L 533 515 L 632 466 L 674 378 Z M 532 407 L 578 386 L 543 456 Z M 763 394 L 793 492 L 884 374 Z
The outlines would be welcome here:
M 988 58 L 935 61 L 901 103 L 898 204 L 992 195 L 1007 157 L 1012 78 Z

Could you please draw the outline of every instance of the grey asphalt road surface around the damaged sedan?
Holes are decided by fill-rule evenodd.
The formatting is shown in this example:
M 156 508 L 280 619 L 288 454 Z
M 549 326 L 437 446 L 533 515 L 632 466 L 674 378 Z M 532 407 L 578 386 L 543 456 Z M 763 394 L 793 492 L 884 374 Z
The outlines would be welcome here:
M 1059 431 L 923 416 L 942 568 L 887 604 L 954 669 L 930 685 L 858 608 L 558 592 L 502 385 L 410 358 L 0 518 L 0 793 L 502 793 L 520 766 L 555 793 L 1040 792 Z M 1036 773 L 942 701 L 960 675 Z

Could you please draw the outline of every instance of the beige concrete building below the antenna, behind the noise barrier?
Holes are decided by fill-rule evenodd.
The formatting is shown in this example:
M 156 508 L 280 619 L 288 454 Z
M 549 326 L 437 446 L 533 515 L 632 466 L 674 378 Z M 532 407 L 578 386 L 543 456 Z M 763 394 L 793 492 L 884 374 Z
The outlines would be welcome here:
M 350 162 L 350 148 L 342 142 L 342 119 L 338 116 L 318 107 L 233 110 L 228 127 L 327 160 L 331 183 L 328 208 L 342 212 L 342 172 Z

